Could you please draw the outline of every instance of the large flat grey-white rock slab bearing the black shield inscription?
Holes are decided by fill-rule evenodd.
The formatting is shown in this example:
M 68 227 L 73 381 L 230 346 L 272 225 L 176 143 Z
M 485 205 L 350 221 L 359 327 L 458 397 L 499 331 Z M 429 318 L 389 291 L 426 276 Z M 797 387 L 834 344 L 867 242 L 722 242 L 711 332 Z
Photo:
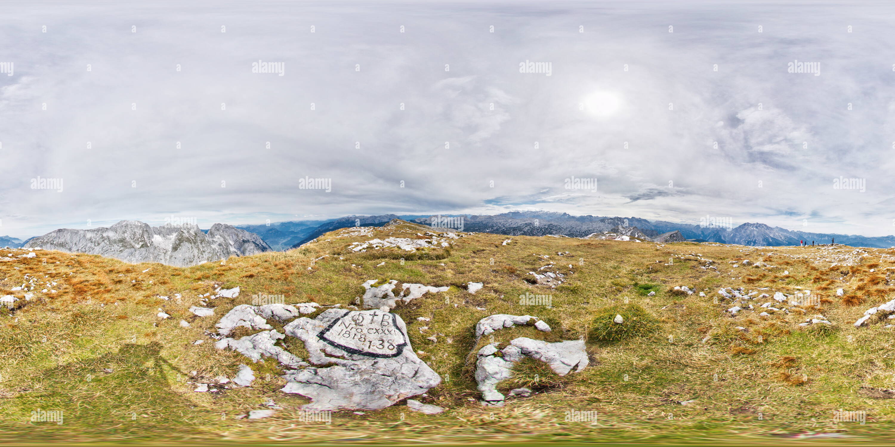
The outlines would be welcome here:
M 396 314 L 334 308 L 314 319 L 298 318 L 284 330 L 301 339 L 311 363 L 320 366 L 284 376 L 282 392 L 311 398 L 303 409 L 384 409 L 441 383 L 413 353 Z

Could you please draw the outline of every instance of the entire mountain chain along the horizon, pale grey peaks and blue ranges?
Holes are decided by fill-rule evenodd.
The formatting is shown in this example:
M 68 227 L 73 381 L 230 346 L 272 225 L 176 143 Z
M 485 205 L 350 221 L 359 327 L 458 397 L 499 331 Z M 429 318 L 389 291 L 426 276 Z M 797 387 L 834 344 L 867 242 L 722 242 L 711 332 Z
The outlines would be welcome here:
M 215 223 L 208 231 L 200 230 L 196 225 L 150 227 L 147 223 L 122 221 L 109 228 L 56 230 L 24 242 L 3 236 L 0 237 L 0 247 L 40 247 L 115 257 L 127 262 L 194 266 L 234 255 L 249 256 L 272 249 L 294 249 L 326 232 L 354 226 L 383 226 L 398 218 L 464 232 L 490 232 L 507 236 L 554 234 L 575 238 L 591 236 L 590 239 L 695 240 L 750 246 L 798 245 L 799 240 L 830 243 L 835 239 L 837 243 L 853 247 L 886 249 L 895 246 L 895 236 L 891 235 L 868 238 L 850 234 L 795 232 L 764 223 L 743 223 L 727 229 L 649 221 L 638 217 L 514 211 L 500 215 L 346 215 L 325 221 L 239 227 Z

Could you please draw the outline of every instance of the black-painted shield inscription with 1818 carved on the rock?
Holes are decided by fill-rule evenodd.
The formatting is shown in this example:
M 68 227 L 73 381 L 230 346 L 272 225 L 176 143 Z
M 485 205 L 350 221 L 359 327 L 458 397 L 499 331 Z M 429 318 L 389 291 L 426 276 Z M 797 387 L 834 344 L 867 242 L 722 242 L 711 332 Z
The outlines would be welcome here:
M 407 346 L 395 314 L 379 309 L 345 312 L 318 337 L 345 352 L 375 358 L 397 357 Z

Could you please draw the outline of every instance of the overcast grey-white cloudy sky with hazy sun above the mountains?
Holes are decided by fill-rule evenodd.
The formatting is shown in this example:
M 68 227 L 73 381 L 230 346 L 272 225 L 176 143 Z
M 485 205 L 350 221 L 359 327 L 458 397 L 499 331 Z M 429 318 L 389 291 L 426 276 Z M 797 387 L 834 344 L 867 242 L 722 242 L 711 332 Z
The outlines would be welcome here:
M 0 235 L 522 209 L 895 232 L 893 4 L 33 3 L 0 21 Z

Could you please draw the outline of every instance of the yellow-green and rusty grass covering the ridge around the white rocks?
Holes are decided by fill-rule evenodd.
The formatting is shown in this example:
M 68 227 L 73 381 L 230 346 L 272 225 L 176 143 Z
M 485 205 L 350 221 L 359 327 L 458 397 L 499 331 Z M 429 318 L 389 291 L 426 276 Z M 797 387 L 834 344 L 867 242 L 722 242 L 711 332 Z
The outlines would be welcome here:
M 881 255 L 893 250 L 867 249 L 873 256 L 856 265 L 831 267 L 831 262 L 814 262 L 830 256 L 820 248 L 525 236 L 502 245 L 506 236 L 485 233 L 415 254 L 349 249 L 352 242 L 374 237 L 429 237 L 425 228 L 409 223 L 371 231 L 354 236 L 351 229 L 331 232 L 302 249 L 189 268 L 42 250 L 38 257 L 0 261 L 4 293 L 25 282 L 26 273 L 57 283 L 56 293 L 41 293 L 45 285 L 39 285 L 35 299 L 16 302 L 14 312 L 0 310 L 0 439 L 455 443 L 459 437 L 463 443 L 620 443 L 693 442 L 699 436 L 772 442 L 768 434 L 802 430 L 848 430 L 877 440 L 888 436 L 895 414 L 892 400 L 874 399 L 861 387 L 895 387 L 891 328 L 849 323 L 865 308 L 891 299 L 882 272 L 895 263 Z M 839 250 L 844 257 L 854 249 Z M 699 268 L 705 263 L 698 255 L 715 261 L 719 271 Z M 744 258 L 772 267 L 729 263 L 740 265 Z M 551 270 L 566 274 L 567 281 L 556 288 L 534 284 L 528 272 L 550 261 L 556 263 Z M 253 294 L 282 294 L 287 303 L 347 306 L 362 295 L 361 284 L 372 279 L 451 287 L 395 309 L 407 323 L 413 349 L 422 351 L 420 358 L 445 379 L 422 401 L 447 408 L 445 413 L 426 416 L 398 404 L 364 415 L 337 412 L 328 426 L 299 422 L 307 400 L 278 392 L 285 383 L 277 376 L 281 368 L 276 362 L 252 364 L 234 351 L 215 350 L 205 335 L 229 308 L 251 303 Z M 482 282 L 484 288 L 470 294 L 464 285 L 469 282 Z M 188 308 L 200 305 L 197 295 L 212 292 L 215 285 L 240 286 L 242 293 L 236 299 L 211 300 L 215 316 L 193 316 Z M 680 294 L 672 289 L 676 285 L 707 296 Z M 731 317 L 723 310 L 732 305 L 724 306 L 723 300 L 716 304 L 713 298 L 720 298 L 720 287 L 740 286 L 746 291 L 769 287 L 763 292 L 771 295 L 802 287 L 823 300 L 821 308 L 793 308 L 788 315 L 741 311 Z M 835 295 L 839 287 L 847 290 L 846 296 Z M 646 296 L 649 291 L 655 296 Z M 174 299 L 175 293 L 182 299 Z M 550 296 L 552 307 L 520 305 L 519 296 L 525 293 Z M 632 308 L 650 322 L 648 330 L 609 338 L 597 330 L 601 318 Z M 171 318 L 158 318 L 159 309 Z M 498 313 L 539 316 L 554 331 L 507 328 L 493 334 L 495 342 L 518 336 L 550 342 L 584 338 L 591 366 L 558 377 L 536 362 L 523 362 L 500 389 L 529 386 L 537 393 L 507 401 L 504 408 L 482 408 L 475 401 L 479 394 L 470 352 L 491 340 L 477 342 L 473 327 Z M 834 325 L 823 331 L 797 326 L 814 314 Z M 430 321 L 417 321 L 419 316 Z M 181 319 L 191 327 L 178 325 Z M 205 342 L 192 344 L 198 340 Z M 288 350 L 306 358 L 300 343 L 286 342 Z M 240 363 L 250 365 L 258 377 L 251 388 L 192 391 L 194 383 L 232 377 Z M 268 399 L 283 407 L 276 417 L 234 419 L 266 408 L 260 404 Z M 30 423 L 36 409 L 62 409 L 64 424 Z M 834 424 L 834 409 L 866 410 L 867 424 Z M 594 426 L 566 422 L 569 410 L 595 410 L 600 420 Z

